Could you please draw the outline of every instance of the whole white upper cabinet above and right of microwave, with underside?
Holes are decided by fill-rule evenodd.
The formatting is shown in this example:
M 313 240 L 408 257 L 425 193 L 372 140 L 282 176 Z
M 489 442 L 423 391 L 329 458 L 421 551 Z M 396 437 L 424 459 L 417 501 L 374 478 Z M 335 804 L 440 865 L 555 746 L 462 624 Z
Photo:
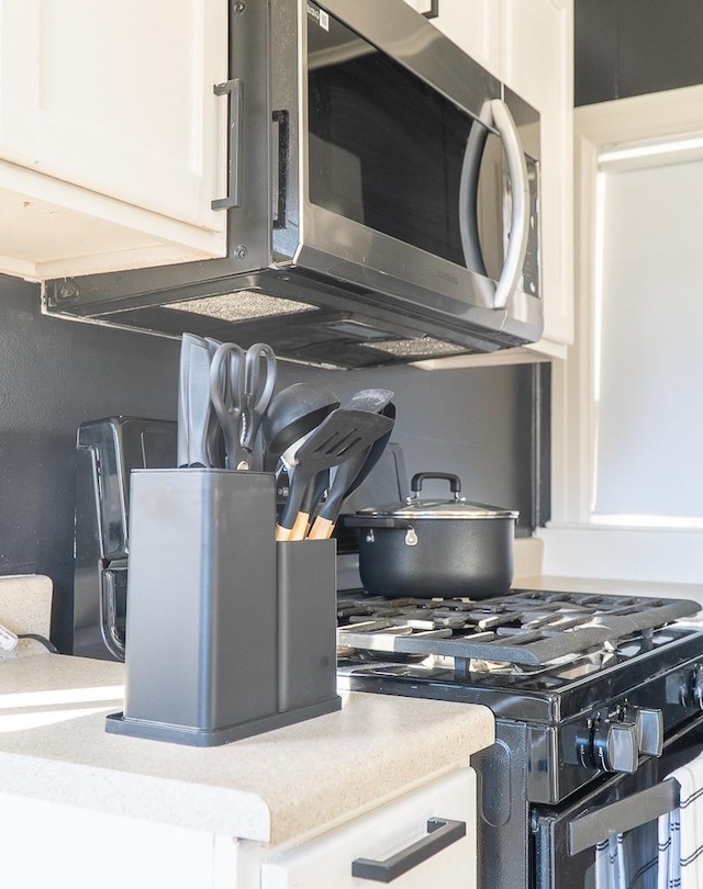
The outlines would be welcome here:
M 545 328 L 520 349 L 423 365 L 563 358 L 573 340 L 573 0 L 439 0 L 438 12 L 436 27 L 539 111 Z

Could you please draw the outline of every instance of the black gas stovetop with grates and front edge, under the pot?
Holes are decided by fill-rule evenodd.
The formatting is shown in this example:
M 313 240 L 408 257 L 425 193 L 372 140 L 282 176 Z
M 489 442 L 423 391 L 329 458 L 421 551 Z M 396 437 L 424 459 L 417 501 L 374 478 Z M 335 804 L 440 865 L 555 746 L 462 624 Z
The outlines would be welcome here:
M 528 589 L 477 601 L 346 593 L 337 603 L 338 675 L 355 690 L 560 721 L 703 660 L 703 632 L 673 622 L 699 610 L 685 599 Z M 652 706 L 689 694 L 665 685 Z

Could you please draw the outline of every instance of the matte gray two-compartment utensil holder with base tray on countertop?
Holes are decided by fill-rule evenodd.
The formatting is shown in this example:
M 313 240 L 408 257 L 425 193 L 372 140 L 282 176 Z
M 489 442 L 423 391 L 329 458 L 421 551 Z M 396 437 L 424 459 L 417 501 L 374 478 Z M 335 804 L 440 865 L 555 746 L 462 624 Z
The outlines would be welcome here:
M 214 746 L 338 709 L 334 544 L 309 556 L 313 593 L 298 554 L 278 564 L 274 475 L 135 470 L 130 499 L 124 712 L 107 730 Z

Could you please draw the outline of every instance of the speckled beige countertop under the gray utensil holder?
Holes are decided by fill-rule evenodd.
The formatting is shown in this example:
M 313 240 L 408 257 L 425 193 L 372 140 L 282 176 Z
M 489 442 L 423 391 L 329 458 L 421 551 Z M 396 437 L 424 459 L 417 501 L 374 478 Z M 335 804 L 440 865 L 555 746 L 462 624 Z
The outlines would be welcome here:
M 283 843 L 469 763 L 483 707 L 349 693 L 339 712 L 220 747 L 108 734 L 123 666 L 65 655 L 0 664 L 0 786 L 231 836 Z

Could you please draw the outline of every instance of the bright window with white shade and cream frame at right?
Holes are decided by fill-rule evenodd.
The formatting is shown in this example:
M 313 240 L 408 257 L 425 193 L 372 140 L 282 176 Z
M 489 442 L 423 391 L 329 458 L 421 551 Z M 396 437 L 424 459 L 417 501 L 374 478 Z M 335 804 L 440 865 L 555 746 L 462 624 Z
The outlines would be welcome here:
M 703 86 L 574 122 L 576 340 L 553 368 L 544 571 L 701 584 Z

